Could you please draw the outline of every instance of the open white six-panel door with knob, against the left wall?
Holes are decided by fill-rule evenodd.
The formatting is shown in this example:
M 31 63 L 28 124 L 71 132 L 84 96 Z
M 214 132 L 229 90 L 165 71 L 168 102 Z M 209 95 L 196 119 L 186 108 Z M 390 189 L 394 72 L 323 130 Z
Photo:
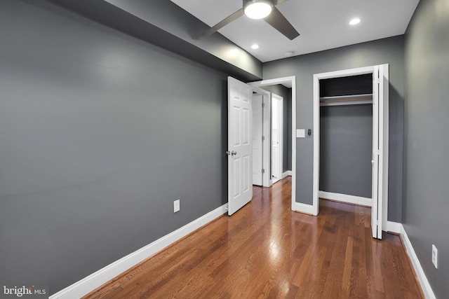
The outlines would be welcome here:
M 228 94 L 228 214 L 253 198 L 250 85 L 227 78 Z

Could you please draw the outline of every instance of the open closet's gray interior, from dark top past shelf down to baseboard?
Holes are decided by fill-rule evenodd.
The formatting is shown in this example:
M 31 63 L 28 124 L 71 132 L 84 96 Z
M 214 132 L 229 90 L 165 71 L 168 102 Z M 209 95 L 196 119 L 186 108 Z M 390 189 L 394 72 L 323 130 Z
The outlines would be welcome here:
M 328 102 L 320 109 L 320 191 L 371 198 L 372 92 L 372 74 L 320 81 L 320 98 Z M 358 104 L 351 97 L 340 102 L 346 95 L 364 96 Z

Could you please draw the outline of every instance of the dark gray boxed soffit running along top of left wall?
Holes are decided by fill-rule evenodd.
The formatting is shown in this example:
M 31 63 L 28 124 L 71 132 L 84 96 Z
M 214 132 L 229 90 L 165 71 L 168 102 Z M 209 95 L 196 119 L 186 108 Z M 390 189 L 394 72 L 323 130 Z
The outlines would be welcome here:
M 193 15 L 166 0 L 50 0 L 107 27 L 148 41 L 229 76 L 246 81 L 262 78 L 262 62 L 219 33 L 208 38 L 209 29 Z M 34 0 L 41 3 L 42 0 Z

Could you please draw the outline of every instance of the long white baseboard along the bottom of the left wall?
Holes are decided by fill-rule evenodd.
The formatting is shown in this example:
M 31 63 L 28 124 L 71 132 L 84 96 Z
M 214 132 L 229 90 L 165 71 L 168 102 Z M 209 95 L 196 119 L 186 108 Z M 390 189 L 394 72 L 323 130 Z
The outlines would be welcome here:
M 210 211 L 208 214 L 197 218 L 191 223 L 182 226 L 182 228 L 179 228 L 174 232 L 170 232 L 170 234 L 165 235 L 160 239 L 152 242 L 151 244 L 148 244 L 147 246 L 128 254 L 128 256 L 116 260 L 114 263 L 103 267 L 102 269 L 89 275 L 88 277 L 83 278 L 80 281 L 72 284 L 71 286 L 64 288 L 58 293 L 51 295 L 49 299 L 81 298 L 83 295 L 91 293 L 91 291 L 102 286 L 107 281 L 130 269 L 130 267 L 137 265 L 143 260 L 154 255 L 154 253 L 161 251 L 162 249 L 166 248 L 166 246 L 169 246 L 182 237 L 189 235 L 189 233 L 197 230 L 198 228 L 201 228 L 201 226 L 206 225 L 210 221 L 213 221 L 215 218 L 222 216 L 222 214 L 225 214 L 226 212 L 227 204 L 224 204 L 221 207 Z

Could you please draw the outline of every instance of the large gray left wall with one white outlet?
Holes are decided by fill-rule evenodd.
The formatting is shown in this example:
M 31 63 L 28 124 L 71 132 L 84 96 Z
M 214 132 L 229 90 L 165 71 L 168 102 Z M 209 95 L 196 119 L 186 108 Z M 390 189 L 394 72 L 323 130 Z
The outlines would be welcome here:
M 227 83 L 47 8 L 0 1 L 0 281 L 55 293 L 227 202 Z

